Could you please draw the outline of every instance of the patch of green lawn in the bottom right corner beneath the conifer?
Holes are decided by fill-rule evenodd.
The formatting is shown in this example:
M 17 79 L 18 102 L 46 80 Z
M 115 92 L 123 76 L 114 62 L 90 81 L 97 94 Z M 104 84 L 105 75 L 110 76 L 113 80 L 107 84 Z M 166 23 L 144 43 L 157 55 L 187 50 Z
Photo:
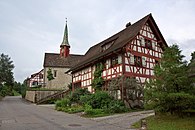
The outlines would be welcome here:
M 146 118 L 148 130 L 195 130 L 195 117 L 156 115 Z M 132 126 L 140 128 L 140 121 Z

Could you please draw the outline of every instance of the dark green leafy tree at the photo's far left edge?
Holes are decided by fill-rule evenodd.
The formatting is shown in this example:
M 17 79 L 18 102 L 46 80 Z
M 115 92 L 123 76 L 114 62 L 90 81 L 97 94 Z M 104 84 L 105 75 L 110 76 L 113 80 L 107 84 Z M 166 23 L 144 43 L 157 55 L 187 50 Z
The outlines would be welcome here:
M 14 64 L 11 61 L 11 58 L 8 55 L 4 55 L 3 53 L 0 56 L 0 85 L 13 85 L 14 77 L 13 77 L 13 69 Z

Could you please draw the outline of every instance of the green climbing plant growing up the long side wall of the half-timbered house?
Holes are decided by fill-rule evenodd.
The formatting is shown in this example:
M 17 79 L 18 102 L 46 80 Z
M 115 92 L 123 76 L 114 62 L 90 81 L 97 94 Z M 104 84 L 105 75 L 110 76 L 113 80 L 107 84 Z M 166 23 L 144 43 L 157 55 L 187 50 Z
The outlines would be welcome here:
M 102 78 L 103 65 L 99 63 L 96 65 L 96 70 L 94 71 L 94 79 L 92 80 L 92 87 L 95 90 L 101 90 L 102 85 L 104 83 L 104 79 Z

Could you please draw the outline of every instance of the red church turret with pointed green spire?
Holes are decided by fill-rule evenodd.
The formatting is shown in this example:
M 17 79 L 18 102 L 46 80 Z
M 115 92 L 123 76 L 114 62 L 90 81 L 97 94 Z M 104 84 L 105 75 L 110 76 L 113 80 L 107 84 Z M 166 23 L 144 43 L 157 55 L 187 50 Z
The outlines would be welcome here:
M 62 44 L 60 45 L 60 56 L 66 58 L 69 56 L 69 54 L 70 54 L 70 45 L 68 42 L 68 27 L 67 27 L 67 20 L 66 20 L 64 38 Z

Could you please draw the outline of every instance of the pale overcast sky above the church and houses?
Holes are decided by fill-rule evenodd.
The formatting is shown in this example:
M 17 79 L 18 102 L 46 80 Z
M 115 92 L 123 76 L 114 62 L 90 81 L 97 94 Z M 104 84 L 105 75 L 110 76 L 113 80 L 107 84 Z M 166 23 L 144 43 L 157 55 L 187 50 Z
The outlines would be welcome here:
M 45 52 L 59 53 L 68 18 L 71 53 L 89 47 L 152 13 L 168 45 L 195 51 L 194 0 L 0 0 L 0 53 L 14 61 L 23 80 L 43 68 Z

